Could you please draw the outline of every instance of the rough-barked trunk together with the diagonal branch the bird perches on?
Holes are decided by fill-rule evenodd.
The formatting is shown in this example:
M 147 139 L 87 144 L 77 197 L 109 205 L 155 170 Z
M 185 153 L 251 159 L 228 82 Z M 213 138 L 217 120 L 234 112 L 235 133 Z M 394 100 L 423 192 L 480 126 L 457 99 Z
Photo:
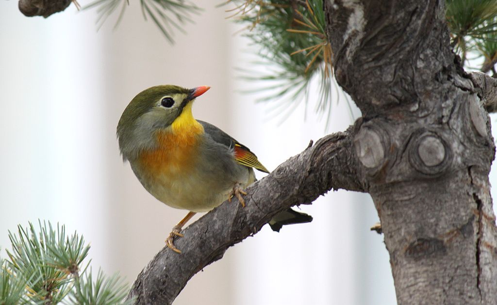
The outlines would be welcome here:
M 324 2 L 336 79 L 363 117 L 249 187 L 246 208 L 189 226 L 181 255 L 164 248 L 140 273 L 137 304 L 170 304 L 227 247 L 331 188 L 371 194 L 399 304 L 497 304 L 495 85 L 452 53 L 443 0 Z

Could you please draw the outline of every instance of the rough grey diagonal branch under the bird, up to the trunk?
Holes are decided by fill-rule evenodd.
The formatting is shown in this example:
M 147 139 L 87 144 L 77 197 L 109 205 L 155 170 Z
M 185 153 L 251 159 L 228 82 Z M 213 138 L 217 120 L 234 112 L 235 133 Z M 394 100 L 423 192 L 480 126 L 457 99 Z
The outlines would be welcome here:
M 226 249 L 257 233 L 291 206 L 311 204 L 330 189 L 364 191 L 356 173 L 353 127 L 320 139 L 252 184 L 247 206 L 224 202 L 183 231 L 181 254 L 164 247 L 138 275 L 128 298 L 136 304 L 171 304 L 188 280 L 223 257 Z

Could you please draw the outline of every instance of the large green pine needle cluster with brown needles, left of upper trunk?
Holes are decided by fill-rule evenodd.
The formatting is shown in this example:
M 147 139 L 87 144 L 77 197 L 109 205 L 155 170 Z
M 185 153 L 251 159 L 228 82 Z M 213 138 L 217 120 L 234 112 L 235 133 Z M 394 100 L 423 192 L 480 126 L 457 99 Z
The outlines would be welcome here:
M 310 83 L 318 79 L 320 95 L 316 111 L 331 110 L 332 51 L 326 35 L 323 0 L 300 1 L 292 5 L 285 0 L 231 0 L 232 18 L 245 24 L 248 37 L 260 50 L 255 64 L 272 66 L 260 75 L 248 70 L 246 77 L 263 80 L 267 92 L 260 101 L 278 101 L 275 110 L 290 114 L 300 102 L 309 103 Z M 272 63 L 272 65 L 270 64 Z M 266 68 L 267 70 L 267 68 Z M 292 101 L 293 105 L 288 105 Z

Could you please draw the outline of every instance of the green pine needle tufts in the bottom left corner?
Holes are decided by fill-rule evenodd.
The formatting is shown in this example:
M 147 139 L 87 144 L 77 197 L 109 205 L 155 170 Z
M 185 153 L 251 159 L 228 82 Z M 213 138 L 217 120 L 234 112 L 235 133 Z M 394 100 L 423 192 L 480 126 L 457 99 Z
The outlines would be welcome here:
M 101 271 L 92 280 L 89 245 L 76 232 L 69 236 L 64 226 L 39 222 L 36 230 L 18 226 L 9 232 L 12 249 L 0 260 L 0 305 L 17 304 L 131 304 L 124 302 L 127 286 L 114 275 Z

